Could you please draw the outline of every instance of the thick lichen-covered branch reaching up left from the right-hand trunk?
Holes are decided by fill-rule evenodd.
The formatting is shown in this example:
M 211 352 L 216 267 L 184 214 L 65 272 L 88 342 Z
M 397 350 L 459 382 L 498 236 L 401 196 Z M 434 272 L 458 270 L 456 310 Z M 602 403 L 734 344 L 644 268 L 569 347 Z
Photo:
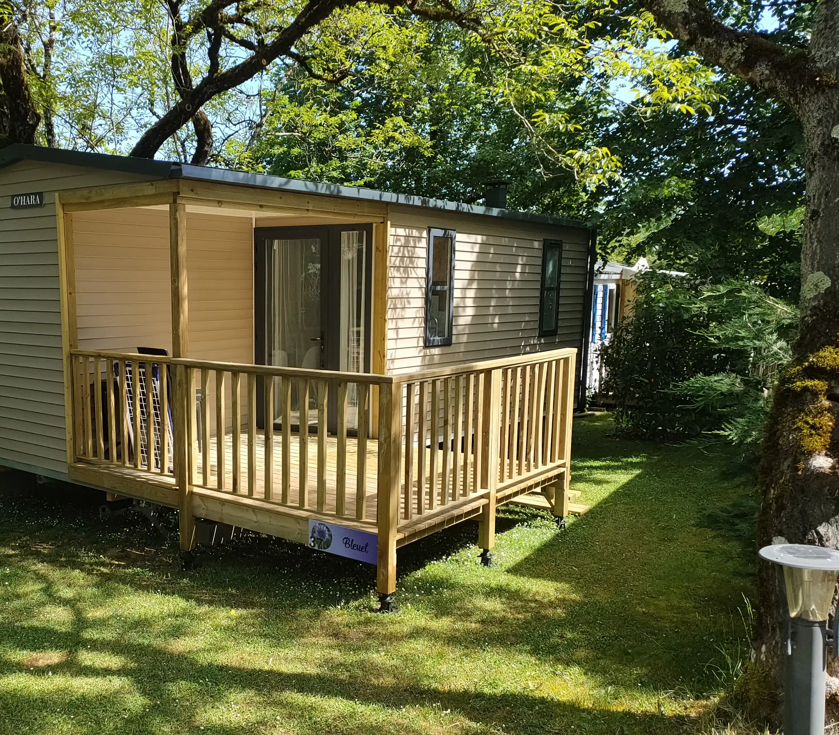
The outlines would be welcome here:
M 800 109 L 816 87 L 836 83 L 805 50 L 790 50 L 764 34 L 721 23 L 703 0 L 642 0 L 658 24 L 707 63 Z M 833 3 L 834 0 L 827 0 Z

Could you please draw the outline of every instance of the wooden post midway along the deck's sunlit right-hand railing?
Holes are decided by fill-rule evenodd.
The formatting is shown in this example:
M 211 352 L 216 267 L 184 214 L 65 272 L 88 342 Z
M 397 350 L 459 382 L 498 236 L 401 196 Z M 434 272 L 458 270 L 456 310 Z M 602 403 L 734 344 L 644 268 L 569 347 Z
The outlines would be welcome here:
M 478 546 L 481 547 L 481 564 L 492 564 L 490 551 L 495 546 L 495 494 L 498 488 L 498 465 L 501 433 L 501 370 L 488 370 L 482 375 L 483 423 L 480 428 L 482 442 L 481 466 L 475 468 L 481 473 L 481 487 L 486 489 L 487 504 L 482 507 L 478 521 Z

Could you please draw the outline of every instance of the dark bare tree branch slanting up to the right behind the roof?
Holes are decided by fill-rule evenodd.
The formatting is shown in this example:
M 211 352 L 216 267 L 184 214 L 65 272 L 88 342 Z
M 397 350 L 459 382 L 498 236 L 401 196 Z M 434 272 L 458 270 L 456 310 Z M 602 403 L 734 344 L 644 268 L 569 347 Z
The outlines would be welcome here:
M 179 0 L 169 0 L 169 2 L 176 4 L 179 8 L 179 15 L 175 16 L 173 14 L 173 18 L 180 18 Z M 154 154 L 157 153 L 166 139 L 169 139 L 170 136 L 174 135 L 177 130 L 180 130 L 180 128 L 190 121 L 195 114 L 195 110 L 200 109 L 206 102 L 216 97 L 216 95 L 227 92 L 233 87 L 237 87 L 245 81 L 252 79 L 253 76 L 263 71 L 268 64 L 280 56 L 289 56 L 294 53 L 294 44 L 303 38 L 311 29 L 315 28 L 317 24 L 326 20 L 334 11 L 360 4 L 360 2 L 361 0 L 309 0 L 300 10 L 297 17 L 288 26 L 281 29 L 271 43 L 258 43 L 256 50 L 247 59 L 239 62 L 235 66 L 231 66 L 229 69 L 219 71 L 214 75 L 205 76 L 195 85 L 194 89 L 191 89 L 188 99 L 182 98 L 143 133 L 137 141 L 137 144 L 134 145 L 130 155 L 138 156 L 139 158 L 154 158 Z M 212 4 L 216 8 L 214 18 L 217 18 L 217 13 L 220 12 L 221 8 L 226 7 L 230 3 L 227 0 L 215 0 Z M 404 0 L 384 0 L 380 4 L 389 8 L 408 8 L 412 13 L 421 18 L 434 21 L 448 20 L 460 25 L 462 28 L 473 31 L 479 31 L 481 29 L 480 21 L 474 18 L 469 11 L 460 10 L 454 8 L 454 6 L 451 6 L 453 9 L 446 6 L 439 7 L 431 5 L 426 0 L 408 0 L 408 2 L 404 2 Z M 201 18 L 206 18 L 204 13 L 200 13 L 200 15 Z M 181 23 L 181 33 L 186 32 L 185 25 Z M 179 36 L 178 47 L 180 47 L 181 43 L 182 36 Z M 175 33 L 173 33 L 173 73 L 175 73 L 175 48 Z M 180 66 L 180 62 L 178 66 Z M 181 78 L 186 76 L 182 68 L 179 69 L 178 73 Z

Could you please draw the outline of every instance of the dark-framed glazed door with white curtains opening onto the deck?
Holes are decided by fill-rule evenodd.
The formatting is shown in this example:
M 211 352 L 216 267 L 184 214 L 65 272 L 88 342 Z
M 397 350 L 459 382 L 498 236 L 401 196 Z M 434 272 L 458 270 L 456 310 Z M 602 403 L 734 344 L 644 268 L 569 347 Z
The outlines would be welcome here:
M 256 230 L 257 361 L 263 365 L 343 372 L 370 369 L 372 227 L 259 228 Z M 260 386 L 262 388 L 262 386 Z M 347 424 L 357 429 L 357 394 L 349 386 Z M 259 425 L 264 425 L 260 390 Z M 274 425 L 282 425 L 279 385 Z M 292 389 L 291 426 L 300 426 L 300 391 Z M 309 388 L 312 428 L 316 386 Z M 336 426 L 336 391 L 329 421 Z

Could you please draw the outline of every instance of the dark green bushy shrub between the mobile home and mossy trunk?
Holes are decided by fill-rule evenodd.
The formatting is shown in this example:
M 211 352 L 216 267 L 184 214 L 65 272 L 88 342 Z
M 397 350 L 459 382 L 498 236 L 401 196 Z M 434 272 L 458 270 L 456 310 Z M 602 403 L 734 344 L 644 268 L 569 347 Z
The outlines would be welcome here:
M 618 430 L 756 446 L 797 324 L 795 307 L 753 284 L 640 276 L 633 317 L 603 349 Z

